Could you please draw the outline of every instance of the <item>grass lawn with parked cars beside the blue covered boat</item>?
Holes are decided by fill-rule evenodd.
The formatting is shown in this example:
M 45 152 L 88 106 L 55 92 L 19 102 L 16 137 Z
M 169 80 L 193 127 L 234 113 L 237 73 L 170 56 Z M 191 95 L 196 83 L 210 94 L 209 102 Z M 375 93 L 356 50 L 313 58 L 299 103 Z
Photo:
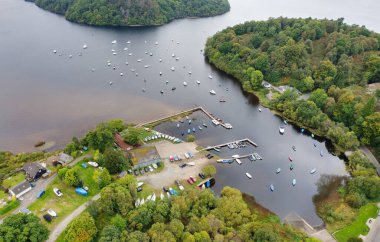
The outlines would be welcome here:
M 51 223 L 47 223 L 42 219 L 43 223 L 47 225 L 49 230 L 52 230 L 77 207 L 100 192 L 100 189 L 92 178 L 95 168 L 91 166 L 88 166 L 88 168 L 83 168 L 81 164 L 82 162 L 78 162 L 73 169 L 78 169 L 78 174 L 83 181 L 84 186 L 89 188 L 88 196 L 85 197 L 75 193 L 74 187 L 66 185 L 63 181 L 56 177 L 54 181 L 47 186 L 46 193 L 28 207 L 33 213 L 41 218 L 49 208 L 53 209 L 58 214 L 57 218 L 53 219 Z M 62 197 L 57 197 L 54 194 L 53 188 L 55 187 L 62 191 Z

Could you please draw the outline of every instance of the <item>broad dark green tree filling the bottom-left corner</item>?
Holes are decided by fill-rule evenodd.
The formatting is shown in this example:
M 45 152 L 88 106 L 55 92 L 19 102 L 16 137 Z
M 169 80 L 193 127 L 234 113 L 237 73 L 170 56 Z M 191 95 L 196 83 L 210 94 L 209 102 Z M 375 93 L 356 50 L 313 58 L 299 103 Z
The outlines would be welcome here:
M 45 241 L 49 230 L 34 214 L 11 214 L 0 224 L 0 241 Z

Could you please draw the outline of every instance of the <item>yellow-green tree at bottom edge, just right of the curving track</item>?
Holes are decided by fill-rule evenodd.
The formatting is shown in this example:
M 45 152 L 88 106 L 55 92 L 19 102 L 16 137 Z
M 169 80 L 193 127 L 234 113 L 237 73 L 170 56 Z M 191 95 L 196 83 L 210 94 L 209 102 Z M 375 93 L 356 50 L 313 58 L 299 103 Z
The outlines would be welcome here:
M 92 241 L 97 233 L 95 220 L 88 212 L 84 212 L 66 227 L 65 241 L 85 242 Z

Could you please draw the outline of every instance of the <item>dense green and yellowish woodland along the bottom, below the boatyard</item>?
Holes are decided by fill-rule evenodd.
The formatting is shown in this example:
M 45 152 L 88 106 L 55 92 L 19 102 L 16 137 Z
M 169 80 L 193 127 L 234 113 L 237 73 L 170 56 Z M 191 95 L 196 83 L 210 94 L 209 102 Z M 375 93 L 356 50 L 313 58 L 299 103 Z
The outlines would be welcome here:
M 134 207 L 135 177 L 101 191 L 101 198 L 68 225 L 65 241 L 316 241 L 270 215 L 260 217 L 240 191 L 225 187 L 221 197 L 190 189 Z

